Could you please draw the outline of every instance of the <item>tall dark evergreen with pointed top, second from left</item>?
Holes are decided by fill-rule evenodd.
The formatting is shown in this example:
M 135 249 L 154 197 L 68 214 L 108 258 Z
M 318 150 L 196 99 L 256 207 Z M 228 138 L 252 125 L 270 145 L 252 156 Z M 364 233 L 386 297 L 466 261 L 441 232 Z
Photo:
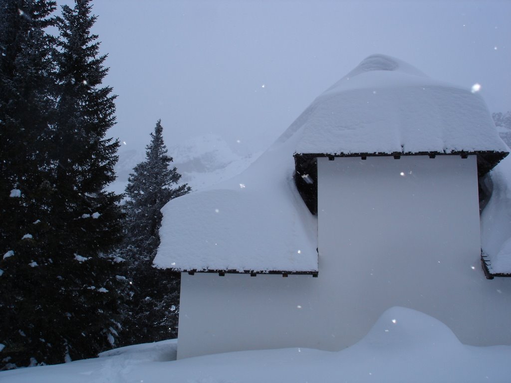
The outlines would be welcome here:
M 6 165 L 8 182 L 19 187 L 8 186 L 2 192 L 5 196 L 10 187 L 20 190 L 10 195 L 21 196 L 11 200 L 24 207 L 25 211 L 16 211 L 16 219 L 26 224 L 15 235 L 5 236 L 7 256 L 0 262 L 2 291 L 10 292 L 0 307 L 0 343 L 5 346 L 0 368 L 4 369 L 95 356 L 114 345 L 120 329 L 122 278 L 115 276 L 120 259 L 105 255 L 122 236 L 120 197 L 104 189 L 114 179 L 119 146 L 105 139 L 114 124 L 115 97 L 111 88 L 101 87 L 107 69 L 105 57 L 99 56 L 97 36 L 90 34 L 96 20 L 90 11 L 88 0 L 76 0 L 73 9 L 62 8 L 57 49 L 47 51 L 54 62 L 47 73 L 51 89 L 36 93 L 38 98 L 8 104 L 24 121 L 26 110 L 39 110 L 38 101 L 53 102 L 44 118 L 27 116 L 23 133 L 41 141 L 31 146 L 31 139 L 27 150 L 20 152 L 33 164 L 29 171 L 20 173 L 14 163 Z M 18 14 L 25 16 L 27 11 Z M 35 20 L 34 15 L 27 17 Z M 35 44 L 35 37 L 29 35 L 27 41 Z M 39 73 L 36 59 L 23 62 L 24 70 Z M 39 88 L 29 85 L 28 89 L 33 95 Z M 9 118 L 6 121 L 16 121 Z M 40 128 L 28 132 L 30 124 Z M 8 137 L 22 142 L 23 135 L 15 135 L 16 129 L 18 135 L 22 132 L 18 126 Z M 19 145 L 22 149 L 25 144 Z M 12 155 L 21 149 L 16 147 Z M 32 178 L 32 173 L 40 177 Z

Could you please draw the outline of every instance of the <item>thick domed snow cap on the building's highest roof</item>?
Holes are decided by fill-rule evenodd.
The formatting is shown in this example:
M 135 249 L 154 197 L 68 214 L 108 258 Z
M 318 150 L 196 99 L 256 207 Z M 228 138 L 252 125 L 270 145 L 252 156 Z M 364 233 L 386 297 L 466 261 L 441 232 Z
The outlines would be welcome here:
M 508 151 L 479 94 L 384 55 L 363 60 L 292 128 L 303 130 L 297 153 Z

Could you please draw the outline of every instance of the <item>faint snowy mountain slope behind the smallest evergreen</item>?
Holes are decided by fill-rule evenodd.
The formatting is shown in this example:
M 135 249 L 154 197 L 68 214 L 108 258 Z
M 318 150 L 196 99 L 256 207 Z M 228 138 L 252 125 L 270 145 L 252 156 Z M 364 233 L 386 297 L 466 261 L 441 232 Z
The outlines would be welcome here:
M 218 135 L 207 134 L 193 137 L 168 147 L 174 159 L 172 165 L 182 175 L 181 182 L 188 183 L 192 190 L 202 190 L 217 182 L 236 176 L 248 167 L 258 155 L 240 155 L 231 149 Z M 145 150 L 121 146 L 119 162 L 115 166 L 117 180 L 108 189 L 124 193 L 133 167 L 145 160 Z

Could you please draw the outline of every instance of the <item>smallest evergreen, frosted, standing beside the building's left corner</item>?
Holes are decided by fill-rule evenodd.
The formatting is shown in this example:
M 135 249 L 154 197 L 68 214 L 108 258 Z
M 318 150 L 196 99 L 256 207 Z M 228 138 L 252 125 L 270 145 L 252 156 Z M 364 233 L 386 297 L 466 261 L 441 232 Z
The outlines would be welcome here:
M 126 186 L 126 257 L 134 295 L 128 308 L 123 343 L 154 342 L 177 335 L 179 274 L 152 267 L 159 245 L 160 209 L 191 191 L 178 185 L 181 175 L 170 167 L 163 127 L 158 120 L 146 147 L 146 160 L 137 164 Z

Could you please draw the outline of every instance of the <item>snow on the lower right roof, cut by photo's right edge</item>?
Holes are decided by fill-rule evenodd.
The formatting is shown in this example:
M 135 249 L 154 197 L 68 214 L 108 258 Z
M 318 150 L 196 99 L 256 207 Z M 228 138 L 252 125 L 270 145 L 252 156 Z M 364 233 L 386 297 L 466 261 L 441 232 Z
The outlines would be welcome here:
M 481 214 L 481 248 L 489 256 L 491 273 L 511 274 L 511 158 L 489 173 L 490 201 Z

